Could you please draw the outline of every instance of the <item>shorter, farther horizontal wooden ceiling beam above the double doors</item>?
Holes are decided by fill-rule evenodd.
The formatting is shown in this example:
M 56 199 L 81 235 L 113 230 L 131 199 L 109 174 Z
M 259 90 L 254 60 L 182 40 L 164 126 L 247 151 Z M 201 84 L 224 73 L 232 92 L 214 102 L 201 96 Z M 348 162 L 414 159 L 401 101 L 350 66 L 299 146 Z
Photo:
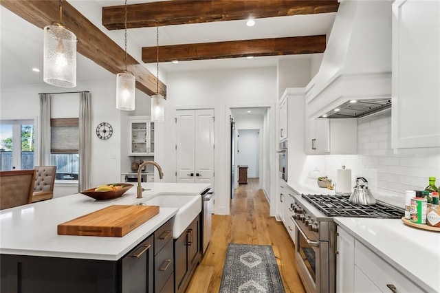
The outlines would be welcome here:
M 167 45 L 159 46 L 159 62 L 312 54 L 324 52 L 325 46 L 325 35 Z M 157 47 L 142 47 L 142 61 L 155 63 L 156 50 Z

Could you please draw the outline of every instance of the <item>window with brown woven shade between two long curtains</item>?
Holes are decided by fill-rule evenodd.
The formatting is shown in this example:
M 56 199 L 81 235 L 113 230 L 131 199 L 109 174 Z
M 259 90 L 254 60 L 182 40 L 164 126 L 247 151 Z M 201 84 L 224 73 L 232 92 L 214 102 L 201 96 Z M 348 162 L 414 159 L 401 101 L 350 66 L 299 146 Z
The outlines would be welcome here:
M 50 120 L 50 164 L 56 166 L 56 180 L 78 180 L 78 118 Z

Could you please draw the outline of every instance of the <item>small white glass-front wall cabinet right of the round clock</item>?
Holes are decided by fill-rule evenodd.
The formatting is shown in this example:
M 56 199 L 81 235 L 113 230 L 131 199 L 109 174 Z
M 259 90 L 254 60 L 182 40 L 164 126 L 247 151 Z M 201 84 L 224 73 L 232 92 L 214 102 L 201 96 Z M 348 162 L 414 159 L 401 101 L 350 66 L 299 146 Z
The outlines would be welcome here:
M 148 116 L 129 117 L 129 155 L 154 155 L 154 122 Z

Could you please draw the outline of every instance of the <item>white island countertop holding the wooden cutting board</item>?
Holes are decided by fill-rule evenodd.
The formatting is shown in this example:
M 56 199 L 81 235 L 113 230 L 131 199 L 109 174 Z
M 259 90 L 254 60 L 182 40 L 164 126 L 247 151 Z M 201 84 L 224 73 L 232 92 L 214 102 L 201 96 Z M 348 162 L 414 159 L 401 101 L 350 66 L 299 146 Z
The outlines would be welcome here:
M 159 214 L 124 237 L 57 235 L 57 226 L 113 204 L 137 204 L 160 194 L 199 194 L 210 184 L 142 183 L 150 189 L 136 198 L 136 186 L 122 197 L 96 201 L 77 193 L 0 211 L 0 253 L 41 257 L 67 257 L 115 261 L 151 235 L 177 213 L 177 208 L 159 208 Z

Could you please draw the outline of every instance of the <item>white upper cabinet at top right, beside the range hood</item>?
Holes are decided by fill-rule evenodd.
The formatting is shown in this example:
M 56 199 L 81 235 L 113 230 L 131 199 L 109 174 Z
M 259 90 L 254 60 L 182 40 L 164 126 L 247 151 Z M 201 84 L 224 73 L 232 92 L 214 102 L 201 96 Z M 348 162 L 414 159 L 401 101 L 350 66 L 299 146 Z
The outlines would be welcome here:
M 440 2 L 393 3 L 394 149 L 440 147 Z

